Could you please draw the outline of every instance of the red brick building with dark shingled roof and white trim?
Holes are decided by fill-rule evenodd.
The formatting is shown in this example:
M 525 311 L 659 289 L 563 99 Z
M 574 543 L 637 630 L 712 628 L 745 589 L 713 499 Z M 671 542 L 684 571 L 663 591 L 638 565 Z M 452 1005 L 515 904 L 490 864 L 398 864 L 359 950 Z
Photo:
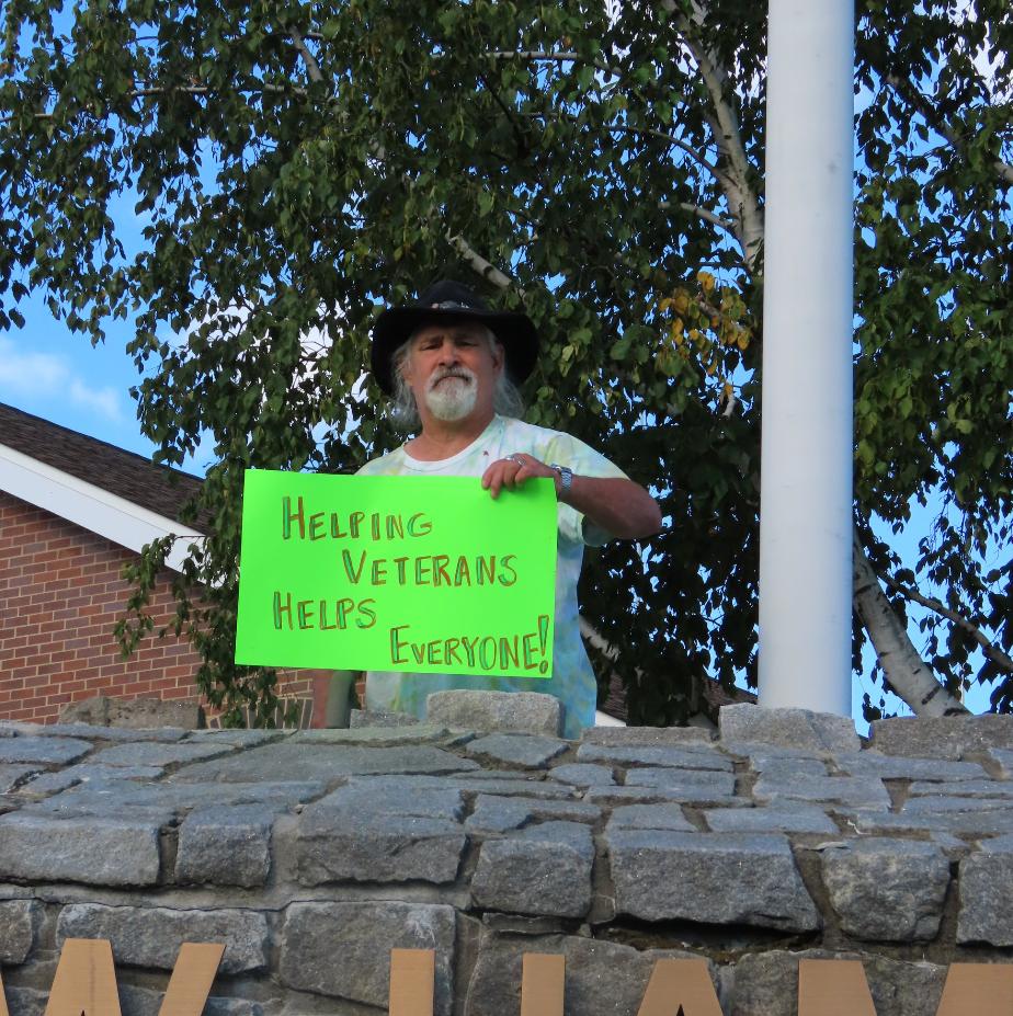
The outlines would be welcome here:
M 123 566 L 179 523 L 201 480 L 0 404 L 0 720 L 54 722 L 68 703 L 200 696 L 185 639 L 149 636 L 124 660 L 113 635 L 129 595 Z M 170 558 L 170 563 L 178 562 Z M 172 616 L 171 573 L 152 597 Z M 310 697 L 321 672 L 280 674 Z

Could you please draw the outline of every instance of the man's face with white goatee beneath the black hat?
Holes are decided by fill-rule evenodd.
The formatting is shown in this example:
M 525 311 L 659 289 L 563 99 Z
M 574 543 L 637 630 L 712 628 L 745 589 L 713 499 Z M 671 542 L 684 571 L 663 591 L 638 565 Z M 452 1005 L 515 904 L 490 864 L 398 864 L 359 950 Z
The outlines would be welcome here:
M 428 324 L 411 340 L 405 379 L 426 415 L 445 422 L 491 414 L 503 352 L 473 322 Z

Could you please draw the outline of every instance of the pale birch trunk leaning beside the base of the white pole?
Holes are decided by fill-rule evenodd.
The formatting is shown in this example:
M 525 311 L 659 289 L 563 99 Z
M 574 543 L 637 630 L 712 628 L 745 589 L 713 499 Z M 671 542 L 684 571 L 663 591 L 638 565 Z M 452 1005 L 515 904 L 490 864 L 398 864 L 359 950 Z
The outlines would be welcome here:
M 890 606 L 869 564 L 857 529 L 854 533 L 854 603 L 887 681 L 915 716 L 951 716 L 968 711 L 938 682 L 911 643 L 907 629 Z

